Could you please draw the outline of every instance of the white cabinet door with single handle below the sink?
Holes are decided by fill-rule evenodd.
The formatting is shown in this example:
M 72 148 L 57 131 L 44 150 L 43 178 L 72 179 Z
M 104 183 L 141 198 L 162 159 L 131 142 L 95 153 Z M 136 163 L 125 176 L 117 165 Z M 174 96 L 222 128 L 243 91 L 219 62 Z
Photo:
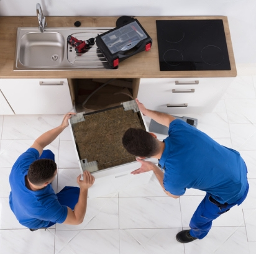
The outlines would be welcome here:
M 68 80 L 0 79 L 15 114 L 64 114 L 73 109 Z

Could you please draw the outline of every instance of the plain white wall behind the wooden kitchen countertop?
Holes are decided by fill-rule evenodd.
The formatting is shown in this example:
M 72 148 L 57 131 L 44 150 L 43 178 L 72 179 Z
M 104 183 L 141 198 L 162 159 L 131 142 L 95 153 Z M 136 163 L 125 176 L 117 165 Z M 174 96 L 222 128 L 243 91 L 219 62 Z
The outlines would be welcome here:
M 0 16 L 35 16 L 37 2 L 45 16 L 227 16 L 236 63 L 256 66 L 255 0 L 0 0 Z

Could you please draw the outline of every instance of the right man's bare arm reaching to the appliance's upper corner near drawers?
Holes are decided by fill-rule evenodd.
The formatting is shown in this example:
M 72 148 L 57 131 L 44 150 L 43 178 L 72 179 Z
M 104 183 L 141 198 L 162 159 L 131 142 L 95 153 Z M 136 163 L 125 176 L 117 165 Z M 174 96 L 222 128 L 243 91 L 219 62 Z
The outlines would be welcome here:
M 139 102 L 139 100 L 136 98 L 135 101 L 138 104 L 139 110 L 144 114 L 145 116 L 150 117 L 151 119 L 158 122 L 158 124 L 165 125 L 169 127 L 170 123 L 175 120 L 175 117 L 170 116 L 168 114 L 158 112 L 158 111 L 151 111 L 150 109 L 146 109 L 144 104 Z

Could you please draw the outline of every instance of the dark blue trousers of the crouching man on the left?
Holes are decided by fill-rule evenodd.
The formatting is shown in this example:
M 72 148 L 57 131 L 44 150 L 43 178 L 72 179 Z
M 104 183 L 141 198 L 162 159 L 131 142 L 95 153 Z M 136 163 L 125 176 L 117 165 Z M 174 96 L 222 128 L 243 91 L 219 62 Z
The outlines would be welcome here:
M 50 159 L 54 160 L 54 153 L 51 150 L 43 150 L 42 155 L 39 159 Z M 78 202 L 78 197 L 80 194 L 80 188 L 73 186 L 65 186 L 59 193 L 57 193 L 58 201 L 63 206 L 68 206 L 72 210 L 75 208 Z M 50 222 L 47 227 L 51 227 L 56 224 L 56 222 Z

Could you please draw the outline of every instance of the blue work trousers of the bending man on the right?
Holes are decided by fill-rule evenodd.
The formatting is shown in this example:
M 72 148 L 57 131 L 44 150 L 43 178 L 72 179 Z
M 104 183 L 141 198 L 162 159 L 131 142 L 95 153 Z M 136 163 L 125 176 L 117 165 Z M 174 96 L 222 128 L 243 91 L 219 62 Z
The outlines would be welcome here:
M 190 235 L 198 239 L 204 238 L 211 229 L 213 220 L 219 217 L 219 215 L 229 211 L 231 207 L 235 205 L 239 206 L 244 201 L 248 191 L 249 184 L 247 183 L 247 188 L 244 195 L 233 204 L 220 204 L 213 199 L 213 197 L 211 197 L 211 194 L 206 193 L 206 196 L 204 197 L 203 201 L 201 201 L 198 208 L 194 212 L 192 219 L 190 220 Z

